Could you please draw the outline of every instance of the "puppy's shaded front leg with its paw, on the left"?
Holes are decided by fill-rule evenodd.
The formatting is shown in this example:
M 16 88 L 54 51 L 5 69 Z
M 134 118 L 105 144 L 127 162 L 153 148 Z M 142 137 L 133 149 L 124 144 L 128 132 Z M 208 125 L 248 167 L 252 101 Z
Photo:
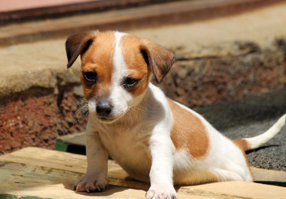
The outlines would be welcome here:
M 86 174 L 74 183 L 74 190 L 78 192 L 102 191 L 108 184 L 108 153 L 101 142 L 99 133 L 93 131 L 89 124 L 86 127 L 86 156 Z

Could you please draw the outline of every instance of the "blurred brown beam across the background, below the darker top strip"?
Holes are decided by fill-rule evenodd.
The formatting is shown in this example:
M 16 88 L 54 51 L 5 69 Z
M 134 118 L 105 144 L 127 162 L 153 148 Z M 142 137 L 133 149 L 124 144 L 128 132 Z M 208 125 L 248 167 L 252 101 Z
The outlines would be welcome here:
M 285 0 L 193 0 L 101 12 L 40 22 L 12 24 L 0 28 L 0 45 L 55 39 L 87 30 L 170 25 L 239 14 Z M 6 15 L 4 15 L 6 16 Z

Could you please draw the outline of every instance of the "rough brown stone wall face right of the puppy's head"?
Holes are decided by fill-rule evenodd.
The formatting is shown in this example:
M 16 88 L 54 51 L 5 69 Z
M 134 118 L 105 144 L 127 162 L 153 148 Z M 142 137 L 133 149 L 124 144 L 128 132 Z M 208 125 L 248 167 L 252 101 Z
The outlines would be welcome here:
M 283 51 L 177 61 L 159 85 L 188 107 L 239 99 L 285 86 Z

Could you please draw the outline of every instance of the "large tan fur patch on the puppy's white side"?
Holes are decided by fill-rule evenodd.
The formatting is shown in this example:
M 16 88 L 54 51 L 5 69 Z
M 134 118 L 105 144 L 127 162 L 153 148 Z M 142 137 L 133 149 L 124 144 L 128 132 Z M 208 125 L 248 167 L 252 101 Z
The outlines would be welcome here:
M 171 139 L 176 149 L 186 148 L 194 158 L 208 154 L 210 141 L 206 127 L 193 113 L 167 98 L 173 113 Z

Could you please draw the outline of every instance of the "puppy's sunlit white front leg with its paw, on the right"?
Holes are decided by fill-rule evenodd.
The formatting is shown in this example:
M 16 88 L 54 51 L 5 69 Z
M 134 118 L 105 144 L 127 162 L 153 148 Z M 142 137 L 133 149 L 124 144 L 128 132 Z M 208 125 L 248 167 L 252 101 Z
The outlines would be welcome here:
M 146 193 L 147 199 L 175 199 L 173 186 L 173 152 L 174 145 L 170 136 L 153 135 L 150 138 L 152 165 L 150 170 L 151 186 Z

